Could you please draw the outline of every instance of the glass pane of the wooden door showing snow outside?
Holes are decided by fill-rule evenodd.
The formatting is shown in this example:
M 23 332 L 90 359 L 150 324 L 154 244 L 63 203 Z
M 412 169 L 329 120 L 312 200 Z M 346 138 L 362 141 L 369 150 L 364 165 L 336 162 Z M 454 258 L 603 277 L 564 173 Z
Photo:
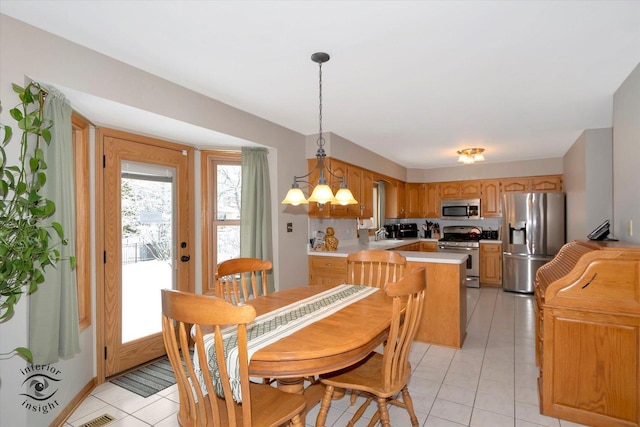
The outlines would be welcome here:
M 162 331 L 160 290 L 175 288 L 175 169 L 123 161 L 121 170 L 122 342 L 126 343 Z

